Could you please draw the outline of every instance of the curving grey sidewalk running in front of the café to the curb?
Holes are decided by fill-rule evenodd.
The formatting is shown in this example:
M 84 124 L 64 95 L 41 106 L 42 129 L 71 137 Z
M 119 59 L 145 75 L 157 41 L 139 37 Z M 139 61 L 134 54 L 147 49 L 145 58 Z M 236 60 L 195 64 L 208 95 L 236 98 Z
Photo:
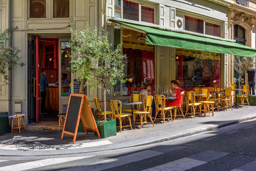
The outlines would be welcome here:
M 95 137 L 94 132 L 88 135 L 77 133 L 75 144 L 72 143 L 73 136 L 68 134 L 61 140 L 62 131 L 58 130 L 22 130 L 20 134 L 14 131 L 0 136 L 0 156 L 63 155 L 121 149 L 190 136 L 254 118 L 256 106 L 244 106 L 214 112 L 214 116 L 208 113 L 205 117 L 178 117 L 173 122 L 166 121 L 164 124 L 156 121 L 155 127 L 152 124 L 134 130 L 126 127 L 122 129 L 122 133 L 117 128 L 117 135 L 108 138 Z

